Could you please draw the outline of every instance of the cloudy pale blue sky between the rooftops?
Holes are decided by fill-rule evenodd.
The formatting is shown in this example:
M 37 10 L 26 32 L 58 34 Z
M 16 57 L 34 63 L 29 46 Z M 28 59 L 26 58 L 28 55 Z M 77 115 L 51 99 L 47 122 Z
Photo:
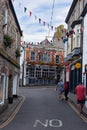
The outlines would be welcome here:
M 15 12 L 26 42 L 41 42 L 53 36 L 55 28 L 65 27 L 73 0 L 14 0 Z M 26 10 L 25 10 L 26 9 Z

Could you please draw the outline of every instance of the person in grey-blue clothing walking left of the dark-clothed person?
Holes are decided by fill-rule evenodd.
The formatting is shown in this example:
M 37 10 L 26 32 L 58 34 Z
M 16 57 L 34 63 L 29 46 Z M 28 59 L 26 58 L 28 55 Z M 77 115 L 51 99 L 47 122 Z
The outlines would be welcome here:
M 56 90 L 58 91 L 59 99 L 63 100 L 64 99 L 64 83 L 62 79 L 60 79 L 59 82 L 57 83 Z

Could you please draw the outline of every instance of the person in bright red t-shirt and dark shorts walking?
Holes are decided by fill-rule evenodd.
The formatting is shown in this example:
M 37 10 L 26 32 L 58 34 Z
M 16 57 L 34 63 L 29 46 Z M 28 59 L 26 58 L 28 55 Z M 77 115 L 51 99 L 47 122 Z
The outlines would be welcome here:
M 75 93 L 77 97 L 77 107 L 79 110 L 79 113 L 82 113 L 83 106 L 85 104 L 85 98 L 86 98 L 86 88 L 82 83 L 76 86 Z

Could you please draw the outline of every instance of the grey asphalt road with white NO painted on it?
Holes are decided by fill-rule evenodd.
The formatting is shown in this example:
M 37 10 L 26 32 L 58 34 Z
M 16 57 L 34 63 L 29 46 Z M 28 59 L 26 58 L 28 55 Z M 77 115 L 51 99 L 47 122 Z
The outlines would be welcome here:
M 22 88 L 26 97 L 15 118 L 2 130 L 87 130 L 87 124 L 59 101 L 54 88 Z

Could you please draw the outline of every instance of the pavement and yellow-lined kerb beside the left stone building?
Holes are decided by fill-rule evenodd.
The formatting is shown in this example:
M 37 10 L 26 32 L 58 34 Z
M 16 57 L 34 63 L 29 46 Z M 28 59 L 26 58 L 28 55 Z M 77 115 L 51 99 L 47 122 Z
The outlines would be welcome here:
M 0 114 L 0 128 L 3 128 L 8 124 L 19 111 L 20 107 L 24 102 L 25 97 L 18 96 L 13 98 L 13 103 L 8 104 L 8 107 Z

